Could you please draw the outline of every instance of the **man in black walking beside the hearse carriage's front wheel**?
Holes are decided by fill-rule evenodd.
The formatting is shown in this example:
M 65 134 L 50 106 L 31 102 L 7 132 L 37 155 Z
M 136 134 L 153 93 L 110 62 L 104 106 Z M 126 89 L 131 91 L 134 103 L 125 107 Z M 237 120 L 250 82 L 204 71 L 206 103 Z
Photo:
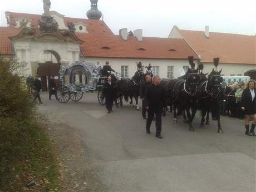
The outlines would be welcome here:
M 112 112 L 113 102 L 116 98 L 116 84 L 112 82 L 111 77 L 107 77 L 107 82 L 104 85 L 104 95 L 106 97 L 106 108 L 107 113 L 110 114 Z

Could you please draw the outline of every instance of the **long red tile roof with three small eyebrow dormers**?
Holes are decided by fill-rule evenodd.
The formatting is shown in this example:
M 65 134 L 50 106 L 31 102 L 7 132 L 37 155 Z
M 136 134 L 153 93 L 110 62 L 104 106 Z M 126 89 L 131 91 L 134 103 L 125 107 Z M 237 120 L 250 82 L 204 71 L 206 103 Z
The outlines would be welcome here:
M 86 57 L 112 57 L 112 58 L 156 58 L 156 59 L 186 59 L 194 56 L 195 52 L 184 40 L 143 37 L 140 42 L 136 37 L 128 37 L 122 40 L 116 35 L 95 35 L 77 33 L 84 43 L 81 51 Z M 109 48 L 103 48 L 109 47 Z M 144 48 L 144 50 L 138 50 Z M 169 51 L 169 50 L 175 51 Z

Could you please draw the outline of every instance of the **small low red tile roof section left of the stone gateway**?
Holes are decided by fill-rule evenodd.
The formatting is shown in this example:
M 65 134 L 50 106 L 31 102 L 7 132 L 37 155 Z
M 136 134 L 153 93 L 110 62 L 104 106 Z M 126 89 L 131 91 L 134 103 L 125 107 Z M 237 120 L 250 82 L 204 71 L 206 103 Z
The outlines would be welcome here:
M 18 33 L 18 28 L 0 27 L 0 55 L 12 55 L 12 43 L 8 37 Z

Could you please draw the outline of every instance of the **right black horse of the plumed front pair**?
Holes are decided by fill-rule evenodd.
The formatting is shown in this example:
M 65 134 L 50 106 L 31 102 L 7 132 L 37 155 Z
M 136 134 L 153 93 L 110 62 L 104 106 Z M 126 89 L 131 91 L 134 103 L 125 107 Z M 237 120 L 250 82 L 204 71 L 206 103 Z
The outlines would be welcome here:
M 223 78 L 220 74 L 221 70 L 214 71 L 213 69 L 208 80 L 200 83 L 198 102 L 202 116 L 200 127 L 204 127 L 206 113 L 206 125 L 209 125 L 209 111 L 211 111 L 213 117 L 218 121 L 218 133 L 223 133 L 220 125 L 220 97 L 221 82 L 223 82 Z

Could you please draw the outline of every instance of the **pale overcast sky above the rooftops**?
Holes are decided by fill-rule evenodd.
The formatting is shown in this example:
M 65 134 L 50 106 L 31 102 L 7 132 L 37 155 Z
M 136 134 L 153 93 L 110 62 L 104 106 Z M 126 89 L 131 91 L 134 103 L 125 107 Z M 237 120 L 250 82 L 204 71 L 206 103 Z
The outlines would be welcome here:
M 67 17 L 87 18 L 90 0 L 51 0 L 51 11 Z M 119 29 L 143 29 L 143 36 L 168 37 L 174 25 L 180 29 L 255 35 L 255 0 L 99 0 L 104 21 L 115 34 Z M 43 13 L 42 0 L 0 0 L 0 23 L 4 12 Z

